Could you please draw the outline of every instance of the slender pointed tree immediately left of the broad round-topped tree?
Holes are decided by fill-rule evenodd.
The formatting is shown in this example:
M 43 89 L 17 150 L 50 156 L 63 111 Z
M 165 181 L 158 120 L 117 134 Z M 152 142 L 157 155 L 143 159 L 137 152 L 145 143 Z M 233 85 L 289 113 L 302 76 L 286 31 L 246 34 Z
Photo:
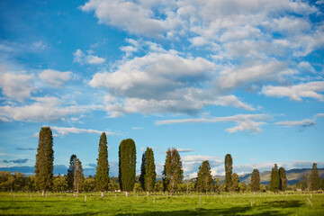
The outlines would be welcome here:
M 109 184 L 109 164 L 108 164 L 108 149 L 107 137 L 105 132 L 100 136 L 98 149 L 97 166 L 95 172 L 95 186 L 100 191 L 103 197 L 103 192 L 108 189 Z

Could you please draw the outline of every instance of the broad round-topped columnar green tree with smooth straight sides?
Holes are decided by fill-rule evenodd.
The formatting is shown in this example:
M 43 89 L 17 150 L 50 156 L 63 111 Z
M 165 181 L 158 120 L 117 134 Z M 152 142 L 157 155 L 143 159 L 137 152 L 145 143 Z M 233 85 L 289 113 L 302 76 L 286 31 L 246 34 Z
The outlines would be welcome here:
M 135 184 L 136 147 L 133 139 L 123 139 L 119 148 L 119 182 L 128 196 Z

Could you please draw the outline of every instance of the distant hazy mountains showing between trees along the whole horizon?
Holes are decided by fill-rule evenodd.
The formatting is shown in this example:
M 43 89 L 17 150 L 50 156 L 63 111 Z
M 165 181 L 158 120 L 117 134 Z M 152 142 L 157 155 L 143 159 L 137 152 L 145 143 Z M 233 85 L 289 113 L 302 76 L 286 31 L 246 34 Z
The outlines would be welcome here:
M 26 175 L 33 175 L 35 167 L 34 166 L 11 166 L 11 167 L 0 167 L 0 171 L 10 171 L 10 172 L 21 172 Z M 320 179 L 324 177 L 324 168 L 319 168 Z M 55 165 L 54 166 L 54 175 L 65 175 L 67 174 L 67 166 L 65 165 Z M 84 168 L 85 176 L 94 175 L 95 168 Z M 260 173 L 261 184 L 269 184 L 270 182 L 271 171 L 265 171 Z M 311 174 L 311 168 L 302 168 L 302 169 L 290 169 L 286 170 L 287 183 L 295 184 L 299 182 L 303 175 Z M 117 176 L 117 173 L 111 173 L 112 176 Z M 214 175 L 214 177 L 220 178 L 221 180 L 225 179 L 224 175 Z M 251 182 L 251 174 L 239 175 L 239 182 L 245 182 L 249 184 Z

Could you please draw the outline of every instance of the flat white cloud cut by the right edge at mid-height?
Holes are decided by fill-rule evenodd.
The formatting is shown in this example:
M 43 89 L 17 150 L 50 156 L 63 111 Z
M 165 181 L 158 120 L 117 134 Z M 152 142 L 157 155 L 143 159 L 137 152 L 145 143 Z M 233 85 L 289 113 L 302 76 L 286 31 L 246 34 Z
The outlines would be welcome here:
M 262 88 L 262 94 L 266 96 L 284 97 L 287 96 L 294 101 L 302 101 L 302 97 L 311 97 L 323 101 L 323 95 L 317 92 L 324 91 L 324 82 L 315 81 L 292 86 L 266 85 Z

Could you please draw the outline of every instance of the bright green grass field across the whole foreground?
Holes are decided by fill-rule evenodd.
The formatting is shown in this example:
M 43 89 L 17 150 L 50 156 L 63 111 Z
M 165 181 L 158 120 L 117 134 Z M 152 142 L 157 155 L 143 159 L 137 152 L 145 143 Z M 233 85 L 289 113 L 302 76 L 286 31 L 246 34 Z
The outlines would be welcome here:
M 81 193 L 76 198 L 71 193 L 48 193 L 47 197 L 40 193 L 0 193 L 0 215 L 324 215 L 322 193 L 99 195 Z

